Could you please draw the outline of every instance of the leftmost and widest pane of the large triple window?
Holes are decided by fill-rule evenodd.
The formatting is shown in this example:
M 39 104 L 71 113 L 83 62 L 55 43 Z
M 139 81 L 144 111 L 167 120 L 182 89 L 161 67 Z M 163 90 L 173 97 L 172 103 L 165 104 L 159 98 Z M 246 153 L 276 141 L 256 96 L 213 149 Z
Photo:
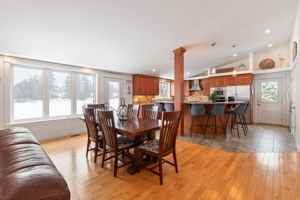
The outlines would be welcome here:
M 13 68 L 13 119 L 43 116 L 42 70 Z

